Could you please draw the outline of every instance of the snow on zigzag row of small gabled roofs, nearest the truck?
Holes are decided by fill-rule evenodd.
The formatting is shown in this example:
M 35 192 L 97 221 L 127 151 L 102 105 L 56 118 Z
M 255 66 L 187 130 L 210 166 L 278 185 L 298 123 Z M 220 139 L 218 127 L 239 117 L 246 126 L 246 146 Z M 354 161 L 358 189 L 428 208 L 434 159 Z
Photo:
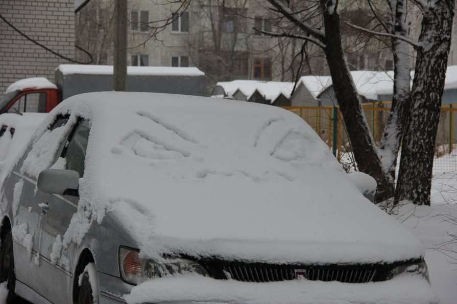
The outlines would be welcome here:
M 251 98 L 257 90 L 264 98 L 273 102 L 280 94 L 289 98 L 294 88 L 294 82 L 233 80 L 218 82 L 217 86 L 222 87 L 227 96 L 233 96 L 239 90 L 247 99 Z

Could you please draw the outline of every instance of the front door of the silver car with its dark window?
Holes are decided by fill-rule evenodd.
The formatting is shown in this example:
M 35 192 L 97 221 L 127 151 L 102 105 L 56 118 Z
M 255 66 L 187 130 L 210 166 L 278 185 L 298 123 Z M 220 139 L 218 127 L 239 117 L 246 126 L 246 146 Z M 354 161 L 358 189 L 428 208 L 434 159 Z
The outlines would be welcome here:
M 68 136 L 61 155 L 52 168 L 74 170 L 84 175 L 84 160 L 89 136 L 89 122 L 80 119 Z M 39 219 L 40 231 L 40 274 L 46 280 L 41 282 L 43 295 L 54 303 L 63 303 L 73 282 L 75 243 L 67 242 L 65 233 L 70 220 L 77 212 L 79 201 L 77 191 L 68 195 L 40 194 L 36 204 L 42 206 Z

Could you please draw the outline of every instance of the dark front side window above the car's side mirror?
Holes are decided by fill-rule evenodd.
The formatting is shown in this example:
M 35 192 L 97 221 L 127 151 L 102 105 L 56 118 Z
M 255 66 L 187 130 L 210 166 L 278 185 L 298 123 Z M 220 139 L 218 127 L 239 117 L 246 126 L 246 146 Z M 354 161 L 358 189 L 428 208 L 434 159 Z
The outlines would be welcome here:
M 62 151 L 65 159 L 65 169 L 84 175 L 84 160 L 86 159 L 87 141 L 89 139 L 89 121 L 81 119 L 70 134 L 69 140 Z

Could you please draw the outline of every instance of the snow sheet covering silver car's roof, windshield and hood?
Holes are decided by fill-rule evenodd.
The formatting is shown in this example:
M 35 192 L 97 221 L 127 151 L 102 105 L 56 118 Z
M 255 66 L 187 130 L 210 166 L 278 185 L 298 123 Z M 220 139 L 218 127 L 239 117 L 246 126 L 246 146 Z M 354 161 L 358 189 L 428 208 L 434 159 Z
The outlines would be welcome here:
M 91 120 L 67 242 L 80 242 L 91 221 L 109 214 L 151 257 L 373 263 L 423 255 L 287 110 L 102 92 L 71 97 L 53 113 L 67 112 Z

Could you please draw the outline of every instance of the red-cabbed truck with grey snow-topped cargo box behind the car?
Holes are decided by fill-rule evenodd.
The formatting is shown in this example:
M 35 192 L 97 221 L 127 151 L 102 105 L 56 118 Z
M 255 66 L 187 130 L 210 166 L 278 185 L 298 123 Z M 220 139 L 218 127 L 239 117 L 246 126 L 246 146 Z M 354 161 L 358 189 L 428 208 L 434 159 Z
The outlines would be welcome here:
M 55 72 L 56 84 L 35 77 L 10 85 L 0 99 L 0 114 L 48 113 L 70 96 L 112 91 L 112 77 L 113 66 L 60 65 Z M 128 67 L 127 91 L 205 96 L 205 74 L 194 67 Z

